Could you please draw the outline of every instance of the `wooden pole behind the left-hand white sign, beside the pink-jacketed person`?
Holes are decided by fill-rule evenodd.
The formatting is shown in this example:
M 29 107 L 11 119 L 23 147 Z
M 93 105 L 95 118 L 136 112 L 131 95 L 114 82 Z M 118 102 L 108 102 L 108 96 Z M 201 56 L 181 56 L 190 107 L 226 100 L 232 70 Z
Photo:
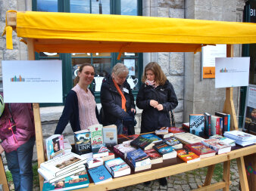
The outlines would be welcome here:
M 27 51 L 29 60 L 35 60 L 34 42 L 33 39 L 27 39 Z M 45 162 L 44 149 L 43 149 L 43 137 L 42 137 L 42 125 L 40 119 L 39 103 L 33 103 L 33 113 L 35 119 L 35 131 L 36 131 L 36 151 L 38 167 L 42 162 Z M 40 190 L 42 190 L 43 177 L 39 176 Z

